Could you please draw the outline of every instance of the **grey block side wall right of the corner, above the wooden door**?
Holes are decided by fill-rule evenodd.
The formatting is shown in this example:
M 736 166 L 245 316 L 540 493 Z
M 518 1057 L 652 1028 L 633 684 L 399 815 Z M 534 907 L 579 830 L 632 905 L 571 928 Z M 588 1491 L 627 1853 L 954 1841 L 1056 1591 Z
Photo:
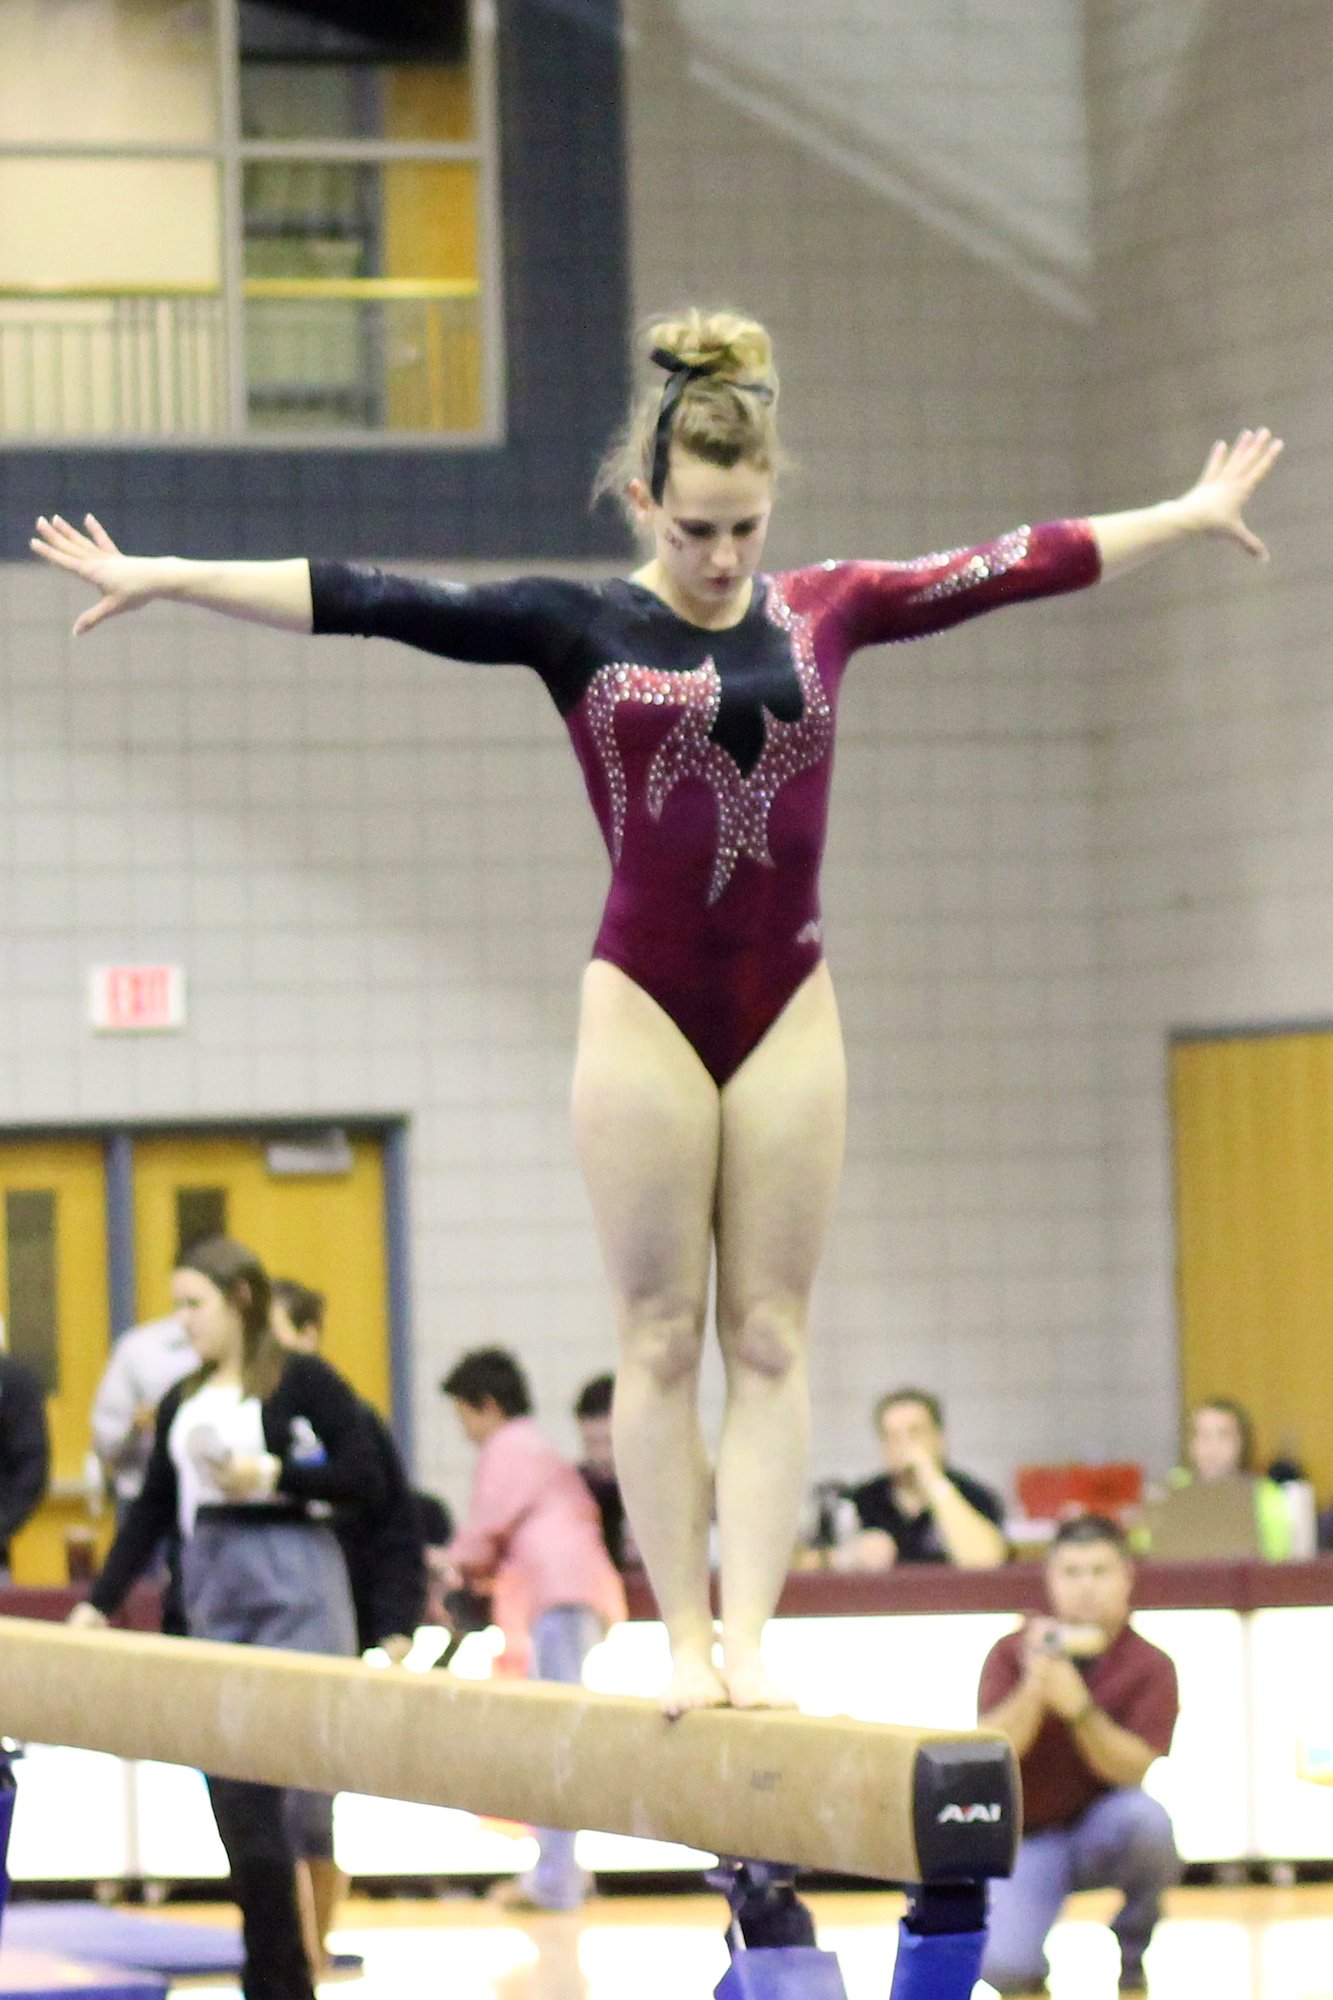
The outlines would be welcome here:
M 1141 172 L 1099 180 L 1089 478 L 1119 504 L 1183 486 L 1225 430 L 1287 438 L 1253 510 L 1271 568 L 1189 550 L 1109 590 L 1087 628 L 1107 1324 L 1137 1390 L 1109 1436 L 1133 1446 L 1177 1390 L 1167 1036 L 1333 1018 L 1333 42 L 1317 0 L 1093 20 L 1103 160 L 1123 162 L 1145 90 L 1161 110 Z M 1153 76 L 1145 50 L 1173 36 L 1179 62 Z

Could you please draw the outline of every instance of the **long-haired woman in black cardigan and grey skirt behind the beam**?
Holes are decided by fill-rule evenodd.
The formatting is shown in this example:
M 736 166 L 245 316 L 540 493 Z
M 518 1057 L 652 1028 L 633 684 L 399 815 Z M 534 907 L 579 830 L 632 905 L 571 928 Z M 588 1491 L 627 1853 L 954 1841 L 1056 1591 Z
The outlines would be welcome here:
M 70 1622 L 106 1624 L 178 1526 L 190 1636 L 354 1654 L 326 1512 L 384 1498 L 360 1400 L 274 1338 L 252 1250 L 212 1236 L 184 1256 L 176 1306 L 198 1366 L 162 1398 L 144 1486 Z M 240 1904 L 246 2000 L 312 2000 L 282 1788 L 210 1776 L 208 1794 Z

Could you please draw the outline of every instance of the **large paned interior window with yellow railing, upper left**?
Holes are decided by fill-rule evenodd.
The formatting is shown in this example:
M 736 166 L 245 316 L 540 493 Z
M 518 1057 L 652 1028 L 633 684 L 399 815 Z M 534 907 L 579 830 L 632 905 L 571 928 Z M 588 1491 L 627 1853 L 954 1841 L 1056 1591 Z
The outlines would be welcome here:
M 4 0 L 0 424 L 498 436 L 486 0 Z

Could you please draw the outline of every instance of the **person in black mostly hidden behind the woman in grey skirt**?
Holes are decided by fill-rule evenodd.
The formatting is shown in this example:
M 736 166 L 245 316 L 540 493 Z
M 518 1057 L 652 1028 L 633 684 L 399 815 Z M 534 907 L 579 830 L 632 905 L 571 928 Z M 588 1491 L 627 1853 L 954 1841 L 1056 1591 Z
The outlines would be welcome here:
M 296 1278 L 272 1280 L 270 1324 L 292 1354 L 320 1352 L 326 1310 L 328 1300 L 314 1286 Z M 384 1480 L 384 1498 L 376 1508 L 336 1508 L 332 1530 L 352 1584 L 358 1650 L 378 1646 L 400 1664 L 412 1650 L 412 1634 L 426 1608 L 420 1514 L 388 1424 L 364 1398 L 360 1408 Z M 310 1976 L 318 1980 L 332 1970 L 328 1934 L 346 1896 L 346 1874 L 334 1856 L 332 1796 L 288 1792 L 286 1824 L 296 1856 L 296 1894 Z

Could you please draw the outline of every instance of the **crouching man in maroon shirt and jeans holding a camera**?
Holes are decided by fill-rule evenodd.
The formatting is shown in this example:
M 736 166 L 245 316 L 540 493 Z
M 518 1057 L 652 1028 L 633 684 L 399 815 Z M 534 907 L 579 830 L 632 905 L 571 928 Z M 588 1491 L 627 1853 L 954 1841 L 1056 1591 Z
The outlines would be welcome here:
M 1003 1730 L 1023 1778 L 1023 1842 L 1013 1876 L 991 1884 L 981 1976 L 1001 1994 L 1045 1992 L 1065 1898 L 1115 1888 L 1121 1992 L 1143 1992 L 1161 1896 L 1181 1872 L 1171 1820 L 1143 1790 L 1171 1750 L 1175 1666 L 1129 1622 L 1133 1564 L 1113 1520 L 1063 1522 L 1045 1582 L 1051 1616 L 991 1648 L 977 1694 L 981 1724 Z

